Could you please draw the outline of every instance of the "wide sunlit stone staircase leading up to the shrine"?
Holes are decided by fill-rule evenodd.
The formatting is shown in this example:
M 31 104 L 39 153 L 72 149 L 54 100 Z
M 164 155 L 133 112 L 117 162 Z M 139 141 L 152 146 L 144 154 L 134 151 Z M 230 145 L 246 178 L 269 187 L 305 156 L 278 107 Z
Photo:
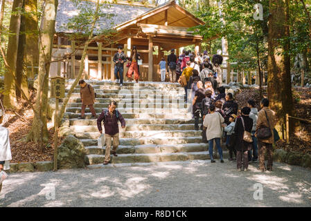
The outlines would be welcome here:
M 210 159 L 208 144 L 202 143 L 202 131 L 194 130 L 194 119 L 184 104 L 184 88 L 179 84 L 124 82 L 120 88 L 112 81 L 87 83 L 96 91 L 94 108 L 98 116 L 114 99 L 118 102 L 118 111 L 125 118 L 125 129 L 119 123 L 120 146 L 116 151 L 118 157 L 111 155 L 112 164 Z M 66 93 L 71 84 L 72 81 L 67 81 Z M 80 87 L 77 86 L 65 115 L 69 117 L 71 131 L 85 145 L 85 162 L 93 167 L 101 166 L 105 159 L 105 146 L 97 146 L 100 133 L 96 119 L 90 119 L 89 108 L 85 111 L 85 119 L 78 119 L 80 112 Z M 224 151 L 224 157 L 226 155 Z

